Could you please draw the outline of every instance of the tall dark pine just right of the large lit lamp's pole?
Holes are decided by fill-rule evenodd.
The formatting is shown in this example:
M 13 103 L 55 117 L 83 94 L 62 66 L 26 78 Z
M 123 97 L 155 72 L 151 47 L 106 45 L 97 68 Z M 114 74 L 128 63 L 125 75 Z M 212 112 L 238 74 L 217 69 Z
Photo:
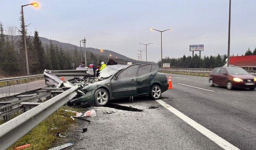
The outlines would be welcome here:
M 39 62 L 39 68 L 38 70 L 41 72 L 46 68 L 46 56 L 44 52 L 44 48 L 42 46 L 42 42 L 39 38 L 38 31 L 36 30 L 34 32 L 34 38 L 33 38 L 33 46 L 34 50 L 37 52 L 38 62 Z

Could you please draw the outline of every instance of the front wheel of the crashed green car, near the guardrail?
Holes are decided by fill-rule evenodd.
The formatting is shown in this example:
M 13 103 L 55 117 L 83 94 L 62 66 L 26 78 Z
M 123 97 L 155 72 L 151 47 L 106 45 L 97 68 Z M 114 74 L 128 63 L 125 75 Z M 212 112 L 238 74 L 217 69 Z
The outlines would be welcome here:
M 106 105 L 109 100 L 108 91 L 105 90 L 104 88 L 100 88 L 100 89 L 96 90 L 96 92 L 94 94 L 94 100 L 95 100 L 96 106 Z

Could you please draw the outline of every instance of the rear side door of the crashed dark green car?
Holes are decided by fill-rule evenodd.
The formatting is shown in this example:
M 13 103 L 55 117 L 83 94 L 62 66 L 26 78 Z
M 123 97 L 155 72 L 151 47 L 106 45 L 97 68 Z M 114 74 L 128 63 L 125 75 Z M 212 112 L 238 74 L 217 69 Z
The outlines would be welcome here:
M 147 94 L 150 90 L 150 82 L 152 80 L 153 75 L 151 74 L 152 64 L 141 65 L 137 74 L 137 94 L 143 95 Z

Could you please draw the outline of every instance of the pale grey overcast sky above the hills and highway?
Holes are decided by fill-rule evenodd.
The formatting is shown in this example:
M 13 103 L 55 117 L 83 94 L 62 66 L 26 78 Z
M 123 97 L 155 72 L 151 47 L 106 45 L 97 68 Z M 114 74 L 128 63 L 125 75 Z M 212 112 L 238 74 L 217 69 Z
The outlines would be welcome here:
M 21 5 L 32 0 L 0 0 L 0 21 L 19 26 Z M 108 49 L 137 59 L 148 46 L 148 60 L 192 55 L 190 44 L 204 44 L 204 55 L 226 54 L 229 0 L 38 0 L 40 8 L 24 8 L 29 32 L 60 42 Z M 33 33 L 32 33 L 33 34 Z M 256 0 L 232 0 L 230 54 L 256 47 Z M 198 52 L 195 52 L 198 53 Z M 142 59 L 146 60 L 145 52 Z

